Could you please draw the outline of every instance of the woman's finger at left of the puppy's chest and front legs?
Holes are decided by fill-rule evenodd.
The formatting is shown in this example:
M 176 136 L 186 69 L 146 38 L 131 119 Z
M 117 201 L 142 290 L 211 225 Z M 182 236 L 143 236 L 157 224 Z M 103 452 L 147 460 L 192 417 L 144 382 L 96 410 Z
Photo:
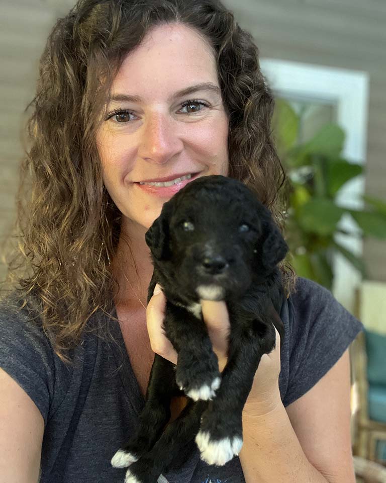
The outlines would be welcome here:
M 157 284 L 154 289 L 154 294 L 146 308 L 146 325 L 149 333 L 151 349 L 164 359 L 177 363 L 177 353 L 169 339 L 165 336 L 162 327 L 165 316 L 166 297 L 162 291 L 157 292 Z

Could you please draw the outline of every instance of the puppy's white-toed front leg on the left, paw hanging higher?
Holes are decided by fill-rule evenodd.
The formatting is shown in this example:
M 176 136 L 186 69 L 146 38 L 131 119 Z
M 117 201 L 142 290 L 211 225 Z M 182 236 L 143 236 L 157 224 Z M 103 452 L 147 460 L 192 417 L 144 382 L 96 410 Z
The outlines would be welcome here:
M 178 387 L 195 401 L 212 399 L 220 387 L 221 374 L 201 315 L 170 304 L 164 329 L 178 353 L 175 372 Z

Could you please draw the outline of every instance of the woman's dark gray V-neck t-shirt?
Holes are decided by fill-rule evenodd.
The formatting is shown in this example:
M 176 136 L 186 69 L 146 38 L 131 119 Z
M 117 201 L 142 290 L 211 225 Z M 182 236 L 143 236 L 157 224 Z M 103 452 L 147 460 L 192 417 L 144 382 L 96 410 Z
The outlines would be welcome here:
M 115 309 L 113 315 L 116 316 Z M 279 387 L 283 405 L 305 394 L 337 362 L 362 330 L 331 293 L 299 278 L 284 303 Z M 126 469 L 110 460 L 134 430 L 144 404 L 117 321 L 101 311 L 117 343 L 86 334 L 66 366 L 26 308 L 0 306 L 0 367 L 32 398 L 44 418 L 41 483 L 122 483 Z M 181 467 L 178 468 L 178 466 Z M 242 483 L 237 457 L 224 466 L 200 460 L 194 441 L 159 483 Z

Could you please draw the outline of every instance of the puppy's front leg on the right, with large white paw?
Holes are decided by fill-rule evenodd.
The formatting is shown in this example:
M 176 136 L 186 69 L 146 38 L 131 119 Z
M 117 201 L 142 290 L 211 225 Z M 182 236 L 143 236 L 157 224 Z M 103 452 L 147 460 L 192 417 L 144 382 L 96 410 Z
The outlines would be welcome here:
M 227 365 L 216 398 L 204 412 L 196 443 L 201 459 L 224 465 L 238 455 L 243 444 L 242 412 L 261 356 L 275 344 L 272 324 L 253 321 L 252 331 L 240 328 L 230 338 Z

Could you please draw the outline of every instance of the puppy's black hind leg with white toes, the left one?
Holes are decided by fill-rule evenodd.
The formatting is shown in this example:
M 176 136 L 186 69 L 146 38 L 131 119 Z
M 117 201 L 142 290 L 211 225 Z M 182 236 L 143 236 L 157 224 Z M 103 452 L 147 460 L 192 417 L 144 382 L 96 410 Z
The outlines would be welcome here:
M 175 383 L 174 365 L 156 354 L 139 425 L 123 448 L 113 456 L 111 464 L 115 468 L 125 468 L 149 451 L 169 421 L 170 400 L 177 394 L 180 391 Z

